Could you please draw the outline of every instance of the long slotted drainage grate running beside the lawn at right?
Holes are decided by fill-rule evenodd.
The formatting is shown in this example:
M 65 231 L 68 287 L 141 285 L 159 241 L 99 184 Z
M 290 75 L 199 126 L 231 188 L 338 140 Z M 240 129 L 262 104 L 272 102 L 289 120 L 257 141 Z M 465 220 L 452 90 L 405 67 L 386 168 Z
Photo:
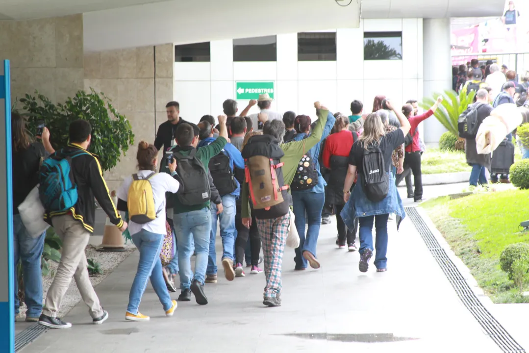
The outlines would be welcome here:
M 496 342 L 498 347 L 506 353 L 525 353 L 525 349 L 523 349 L 512 336 L 510 336 L 507 330 L 505 330 L 494 316 L 485 309 L 485 306 L 481 304 L 467 281 L 461 276 L 458 268 L 455 267 L 452 260 L 446 255 L 446 252 L 437 239 L 435 239 L 426 223 L 424 223 L 424 220 L 415 207 L 406 207 L 406 215 L 409 216 L 418 233 L 421 234 L 421 237 L 426 243 L 426 247 L 430 250 L 437 261 L 437 264 L 439 264 L 443 270 L 446 278 L 448 278 L 461 302 L 463 302 L 464 306 L 466 306 L 474 318 L 476 318 L 487 336 Z

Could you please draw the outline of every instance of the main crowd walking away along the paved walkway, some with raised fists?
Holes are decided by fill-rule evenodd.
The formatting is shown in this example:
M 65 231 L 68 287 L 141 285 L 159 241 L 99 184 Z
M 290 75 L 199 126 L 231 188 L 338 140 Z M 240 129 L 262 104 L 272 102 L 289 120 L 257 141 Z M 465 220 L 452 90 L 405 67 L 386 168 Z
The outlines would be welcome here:
M 320 226 L 331 214 L 336 215 L 338 248 L 356 251 L 358 234 L 360 271 L 368 270 L 373 251 L 377 271 L 386 271 L 388 219 L 396 219 L 398 227 L 405 216 L 396 186 L 410 176 L 408 197 L 422 200 L 424 144 L 417 125 L 433 115 L 441 98 L 424 114 L 418 114 L 413 99 L 396 108 L 386 97 L 377 96 L 368 114 L 355 100 L 351 115 L 333 114 L 315 102 L 316 121 L 291 111 L 281 115 L 270 109 L 271 102 L 267 94 L 260 95 L 239 113 L 237 102 L 227 99 L 223 115 L 217 119 L 205 115 L 198 124 L 185 121 L 179 103 L 169 102 L 168 120 L 160 125 L 154 142 L 139 143 L 138 172 L 125 178 L 116 205 L 98 157 L 89 152 L 88 122 L 71 122 L 70 144 L 55 151 L 48 129 L 43 129 L 42 143 L 32 141 L 24 119 L 13 114 L 15 213 L 40 184 L 43 217 L 63 240 L 59 267 L 43 303 L 40 256 L 45 234 L 30 235 L 15 214 L 15 260 L 22 260 L 26 283 L 25 320 L 51 328 L 71 327 L 57 313 L 72 278 L 93 323 L 108 318 L 86 268 L 95 200 L 118 229 L 129 230 L 139 250 L 125 320 L 149 320 L 139 311 L 149 278 L 167 316 L 174 314 L 178 301 L 194 297 L 197 304 L 208 303 L 207 286 L 217 282 L 217 225 L 224 277 L 232 281 L 245 277 L 248 269 L 254 275 L 264 272 L 267 306 L 281 305 L 282 260 L 289 233 L 295 228 L 299 237 L 293 268 L 318 269 Z M 254 105 L 260 112 L 248 115 Z M 54 168 L 57 165 L 61 168 Z M 62 184 L 53 188 L 54 180 L 60 179 L 56 173 L 65 169 L 69 174 L 62 177 L 72 185 L 66 190 Z M 75 202 L 54 202 L 54 197 L 63 200 L 61 193 L 73 189 Z M 125 219 L 120 211 L 126 212 Z M 167 234 L 174 237 L 174 254 L 163 266 L 160 254 L 167 246 Z M 172 300 L 170 292 L 177 289 L 178 300 Z M 18 313 L 20 303 L 15 306 Z

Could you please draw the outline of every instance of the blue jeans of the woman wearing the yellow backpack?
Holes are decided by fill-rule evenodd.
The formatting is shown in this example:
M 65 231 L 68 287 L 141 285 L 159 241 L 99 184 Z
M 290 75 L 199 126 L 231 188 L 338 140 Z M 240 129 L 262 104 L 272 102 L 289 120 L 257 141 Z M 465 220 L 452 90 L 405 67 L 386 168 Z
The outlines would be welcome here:
M 138 314 L 138 307 L 140 306 L 143 292 L 147 288 L 149 277 L 151 278 L 154 292 L 156 292 L 163 305 L 163 310 L 167 311 L 172 307 L 171 297 L 163 279 L 162 262 L 160 260 L 163 237 L 163 234 L 151 233 L 144 229 L 132 235 L 132 242 L 140 250 L 140 261 L 129 294 L 127 311 L 131 314 Z

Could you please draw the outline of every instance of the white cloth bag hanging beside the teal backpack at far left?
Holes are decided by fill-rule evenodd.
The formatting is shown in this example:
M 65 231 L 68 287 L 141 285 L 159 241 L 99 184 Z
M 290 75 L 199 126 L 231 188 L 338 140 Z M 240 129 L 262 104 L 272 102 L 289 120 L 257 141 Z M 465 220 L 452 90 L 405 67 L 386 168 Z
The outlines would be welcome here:
M 37 238 L 50 228 L 50 225 L 44 222 L 44 207 L 40 202 L 39 186 L 33 188 L 18 209 L 20 219 L 31 238 Z

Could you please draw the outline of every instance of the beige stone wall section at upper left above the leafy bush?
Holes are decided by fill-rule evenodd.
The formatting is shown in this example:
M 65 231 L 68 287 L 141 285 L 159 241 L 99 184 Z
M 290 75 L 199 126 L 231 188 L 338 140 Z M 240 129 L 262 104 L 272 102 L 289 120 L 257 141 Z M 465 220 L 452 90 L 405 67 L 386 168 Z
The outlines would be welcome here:
M 0 59 L 11 60 L 13 102 L 35 89 L 64 102 L 84 87 L 83 15 L 0 21 Z

